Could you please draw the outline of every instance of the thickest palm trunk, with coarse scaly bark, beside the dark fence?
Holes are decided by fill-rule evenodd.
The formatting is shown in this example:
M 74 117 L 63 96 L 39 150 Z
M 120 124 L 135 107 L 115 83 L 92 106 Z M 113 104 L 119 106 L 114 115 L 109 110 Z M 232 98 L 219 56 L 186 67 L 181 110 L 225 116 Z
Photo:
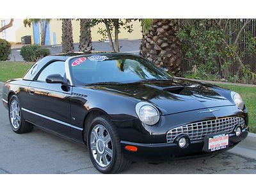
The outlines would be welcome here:
M 176 36 L 179 29 L 175 19 L 142 19 L 141 56 L 164 67 L 174 76 L 182 76 L 183 54 Z

